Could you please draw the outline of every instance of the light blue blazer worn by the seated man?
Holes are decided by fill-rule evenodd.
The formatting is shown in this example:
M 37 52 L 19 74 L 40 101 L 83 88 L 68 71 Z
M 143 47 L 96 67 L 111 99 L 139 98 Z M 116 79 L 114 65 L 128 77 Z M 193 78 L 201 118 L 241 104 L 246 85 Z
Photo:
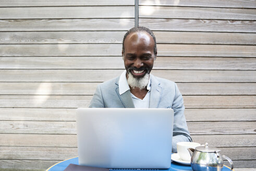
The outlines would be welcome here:
M 119 77 L 99 84 L 89 107 L 134 108 L 130 91 L 119 94 L 118 81 Z M 149 107 L 174 110 L 173 152 L 177 152 L 177 142 L 192 141 L 184 116 L 183 98 L 175 82 L 151 75 Z

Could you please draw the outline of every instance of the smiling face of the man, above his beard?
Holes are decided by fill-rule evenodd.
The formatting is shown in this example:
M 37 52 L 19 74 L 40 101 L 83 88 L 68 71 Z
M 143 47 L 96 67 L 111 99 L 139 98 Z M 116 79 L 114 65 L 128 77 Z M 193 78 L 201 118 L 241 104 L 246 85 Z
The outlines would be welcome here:
M 149 74 L 154 64 L 154 40 L 147 32 L 130 33 L 124 42 L 124 63 L 127 73 L 135 78 Z

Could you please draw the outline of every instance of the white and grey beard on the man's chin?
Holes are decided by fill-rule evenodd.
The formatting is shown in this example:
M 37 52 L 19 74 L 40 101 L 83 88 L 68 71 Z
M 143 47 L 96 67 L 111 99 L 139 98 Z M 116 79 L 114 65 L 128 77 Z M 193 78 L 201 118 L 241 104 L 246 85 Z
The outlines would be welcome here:
M 129 86 L 131 87 L 131 89 L 139 88 L 140 90 L 142 90 L 148 86 L 149 77 L 150 77 L 150 75 L 147 73 L 141 78 L 135 78 L 135 77 L 133 77 L 131 72 L 128 72 L 127 82 L 129 84 Z

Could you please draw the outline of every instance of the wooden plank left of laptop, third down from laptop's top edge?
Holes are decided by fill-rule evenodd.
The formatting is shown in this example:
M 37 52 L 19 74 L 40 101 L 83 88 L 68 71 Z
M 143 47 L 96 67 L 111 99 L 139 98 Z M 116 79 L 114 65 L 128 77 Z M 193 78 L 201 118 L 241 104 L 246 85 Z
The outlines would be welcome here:
M 0 146 L 77 147 L 77 135 L 38 135 L 23 133 L 2 133 L 0 135 Z

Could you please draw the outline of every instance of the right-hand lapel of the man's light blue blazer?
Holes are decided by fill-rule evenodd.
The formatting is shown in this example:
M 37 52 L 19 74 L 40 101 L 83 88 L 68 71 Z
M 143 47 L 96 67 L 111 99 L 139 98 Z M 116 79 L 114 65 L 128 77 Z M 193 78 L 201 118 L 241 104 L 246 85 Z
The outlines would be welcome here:
M 162 94 L 162 87 L 159 81 L 151 75 L 151 90 L 150 90 L 150 102 L 149 108 L 157 108 L 159 106 L 160 97 Z

